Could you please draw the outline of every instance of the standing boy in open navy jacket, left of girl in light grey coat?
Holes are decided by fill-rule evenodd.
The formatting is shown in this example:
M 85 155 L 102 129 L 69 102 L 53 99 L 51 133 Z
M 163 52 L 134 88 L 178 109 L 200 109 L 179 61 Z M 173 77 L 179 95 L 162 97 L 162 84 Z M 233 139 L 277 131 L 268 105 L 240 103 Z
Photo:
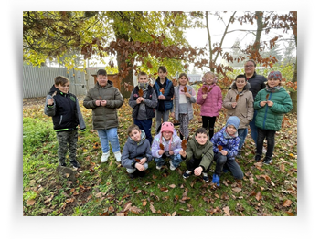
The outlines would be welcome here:
M 169 120 L 170 109 L 173 107 L 174 85 L 167 76 L 167 70 L 164 66 L 158 68 L 158 78 L 155 80 L 153 88 L 155 89 L 158 99 L 155 107 L 155 130 L 159 132 L 161 127 L 161 119 L 163 122 Z

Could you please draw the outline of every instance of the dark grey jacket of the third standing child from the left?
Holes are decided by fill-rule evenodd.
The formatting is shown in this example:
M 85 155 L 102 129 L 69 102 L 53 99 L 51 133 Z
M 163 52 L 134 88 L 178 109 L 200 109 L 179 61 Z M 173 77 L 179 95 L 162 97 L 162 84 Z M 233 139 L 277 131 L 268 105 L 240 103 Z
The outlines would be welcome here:
M 136 86 L 133 89 L 133 92 L 131 92 L 130 95 L 130 99 L 129 99 L 129 105 L 133 108 L 133 119 L 138 119 L 138 120 L 142 120 L 138 118 L 139 115 L 139 109 L 141 104 L 145 105 L 145 119 L 144 120 L 148 120 L 150 118 L 154 118 L 155 117 L 155 107 L 158 103 L 158 99 L 156 98 L 156 94 L 155 94 L 155 90 L 154 88 L 152 88 L 150 85 L 148 85 L 148 90 L 146 90 L 144 92 L 144 102 L 137 104 L 136 103 L 136 99 L 139 98 L 139 87 Z

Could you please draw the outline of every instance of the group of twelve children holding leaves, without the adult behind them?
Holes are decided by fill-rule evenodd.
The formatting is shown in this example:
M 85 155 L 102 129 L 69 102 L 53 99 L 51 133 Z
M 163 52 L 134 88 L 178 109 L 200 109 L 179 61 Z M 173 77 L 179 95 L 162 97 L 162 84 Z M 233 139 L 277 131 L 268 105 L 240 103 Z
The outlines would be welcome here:
M 144 176 L 148 162 L 152 160 L 156 169 L 161 170 L 169 158 L 172 171 L 186 161 L 185 179 L 191 174 L 202 174 L 203 180 L 208 182 L 208 170 L 213 161 L 216 167 L 212 182 L 218 186 L 222 172 L 230 171 L 235 179 L 242 179 L 243 172 L 235 158 L 240 155 L 249 124 L 255 116 L 254 110 L 257 111 L 255 123 L 258 127 L 255 160 L 261 161 L 263 140 L 266 138 L 268 150 L 264 162 L 272 162 L 275 131 L 281 128 L 283 114 L 292 109 L 291 98 L 281 86 L 279 71 L 269 74 L 266 87 L 257 93 L 255 99 L 245 75 L 236 77 L 224 99 L 217 85 L 218 78 L 211 71 L 204 75 L 204 84 L 197 96 L 194 88 L 188 85 L 186 73 L 179 75 L 176 87 L 166 76 L 166 68 L 159 67 L 158 78 L 152 87 L 145 72 L 138 74 L 138 84 L 129 99 L 129 105 L 133 108 L 133 124 L 127 129 L 128 138 L 121 152 L 117 109 L 122 107 L 124 99 L 119 89 L 108 80 L 107 72 L 98 70 L 97 83 L 88 91 L 83 106 L 92 109 L 93 129 L 98 131 L 101 141 L 101 162 L 107 161 L 110 156 L 110 142 L 114 158 L 126 168 L 130 178 Z M 192 104 L 196 102 L 201 106 L 202 127 L 190 137 L 188 124 L 193 119 Z M 228 109 L 226 125 L 214 133 L 216 117 L 222 106 Z M 180 124 L 179 136 L 174 124 L 168 121 L 170 112 Z M 85 130 L 86 126 L 78 99 L 69 93 L 68 78 L 55 78 L 55 85 L 46 99 L 45 114 L 52 116 L 57 132 L 59 165 L 66 166 L 65 155 L 69 144 L 70 163 L 79 168 L 80 163 L 75 159 L 77 127 L 80 125 L 80 130 Z M 154 138 L 151 135 L 153 118 L 156 122 Z M 187 141 L 186 147 L 182 147 L 183 139 Z

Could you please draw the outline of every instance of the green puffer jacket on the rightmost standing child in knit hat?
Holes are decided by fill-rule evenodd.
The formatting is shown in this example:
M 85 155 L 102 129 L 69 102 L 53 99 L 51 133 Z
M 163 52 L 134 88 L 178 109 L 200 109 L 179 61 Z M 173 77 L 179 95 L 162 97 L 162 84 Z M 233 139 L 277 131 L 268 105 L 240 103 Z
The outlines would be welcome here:
M 261 107 L 260 102 L 266 100 L 267 94 L 269 94 L 268 100 L 271 100 L 273 105 L 269 107 L 266 104 Z M 293 109 L 293 101 L 283 87 L 274 93 L 268 91 L 267 88 L 263 88 L 254 99 L 254 109 L 258 111 L 255 120 L 255 125 L 258 128 L 278 131 L 281 129 L 283 115 Z

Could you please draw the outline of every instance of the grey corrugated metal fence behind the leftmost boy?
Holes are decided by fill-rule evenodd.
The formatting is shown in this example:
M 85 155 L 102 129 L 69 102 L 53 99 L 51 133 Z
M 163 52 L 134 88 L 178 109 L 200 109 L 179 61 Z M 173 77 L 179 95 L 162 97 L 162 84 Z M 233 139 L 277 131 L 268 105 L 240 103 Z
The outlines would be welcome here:
M 23 98 L 47 96 L 57 76 L 69 78 L 70 92 L 76 96 L 87 94 L 84 72 L 74 69 L 67 71 L 67 68 L 23 66 Z

